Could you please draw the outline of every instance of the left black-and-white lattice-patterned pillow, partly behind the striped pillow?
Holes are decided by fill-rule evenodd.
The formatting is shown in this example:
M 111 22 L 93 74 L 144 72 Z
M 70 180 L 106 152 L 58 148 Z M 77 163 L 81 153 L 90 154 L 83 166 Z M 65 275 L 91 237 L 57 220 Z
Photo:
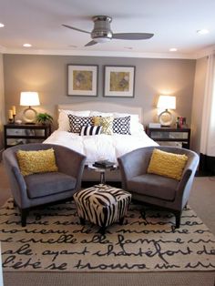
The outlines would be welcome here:
M 69 119 L 69 132 L 72 133 L 79 133 L 83 126 L 92 125 L 93 124 L 93 117 L 77 117 L 72 114 L 68 114 Z

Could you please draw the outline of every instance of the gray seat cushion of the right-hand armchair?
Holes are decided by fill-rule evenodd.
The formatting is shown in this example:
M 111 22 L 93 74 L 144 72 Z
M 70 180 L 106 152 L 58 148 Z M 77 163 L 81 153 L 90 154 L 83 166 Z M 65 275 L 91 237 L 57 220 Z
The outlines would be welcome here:
M 128 191 L 159 199 L 173 200 L 179 181 L 166 177 L 144 174 L 128 180 Z

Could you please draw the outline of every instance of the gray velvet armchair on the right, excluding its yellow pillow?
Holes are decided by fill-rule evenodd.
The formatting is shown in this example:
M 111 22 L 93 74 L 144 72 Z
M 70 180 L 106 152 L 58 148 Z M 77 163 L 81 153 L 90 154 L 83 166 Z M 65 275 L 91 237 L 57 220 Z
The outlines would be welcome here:
M 155 147 L 138 148 L 118 158 L 122 188 L 132 193 L 132 199 L 168 209 L 176 216 L 176 228 L 180 215 L 189 199 L 189 191 L 199 164 L 199 156 L 185 148 L 159 146 L 160 150 L 185 154 L 188 161 L 182 178 L 169 179 L 147 173 L 149 160 Z

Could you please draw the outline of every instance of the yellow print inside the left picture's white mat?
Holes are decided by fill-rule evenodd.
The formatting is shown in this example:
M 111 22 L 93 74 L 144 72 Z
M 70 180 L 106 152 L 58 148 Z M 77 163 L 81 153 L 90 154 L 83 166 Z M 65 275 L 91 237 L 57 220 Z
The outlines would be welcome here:
M 93 72 L 90 70 L 73 71 L 73 90 L 92 90 Z

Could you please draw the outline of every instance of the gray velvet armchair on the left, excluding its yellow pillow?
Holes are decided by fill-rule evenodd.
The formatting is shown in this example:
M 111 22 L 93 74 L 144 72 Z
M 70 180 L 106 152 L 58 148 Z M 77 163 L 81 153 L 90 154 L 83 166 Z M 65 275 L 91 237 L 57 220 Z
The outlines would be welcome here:
M 45 150 L 54 148 L 57 172 L 23 176 L 16 158 L 17 150 Z M 15 205 L 21 211 L 22 226 L 26 226 L 29 209 L 73 198 L 80 189 L 86 157 L 69 148 L 43 143 L 32 143 L 7 148 L 3 152 L 5 171 Z

